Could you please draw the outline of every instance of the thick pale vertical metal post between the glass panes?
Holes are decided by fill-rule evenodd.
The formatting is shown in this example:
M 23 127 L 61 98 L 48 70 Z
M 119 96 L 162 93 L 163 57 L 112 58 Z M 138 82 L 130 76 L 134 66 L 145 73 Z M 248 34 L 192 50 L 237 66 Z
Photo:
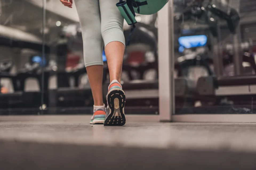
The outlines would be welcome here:
M 158 12 L 158 73 L 160 121 L 171 121 L 175 112 L 173 0 Z

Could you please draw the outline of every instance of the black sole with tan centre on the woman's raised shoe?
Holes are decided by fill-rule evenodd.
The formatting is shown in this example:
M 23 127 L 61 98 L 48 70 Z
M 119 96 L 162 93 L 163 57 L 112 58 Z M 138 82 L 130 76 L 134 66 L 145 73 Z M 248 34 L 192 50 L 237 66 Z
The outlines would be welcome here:
M 109 115 L 104 121 L 104 126 L 122 126 L 125 124 L 125 93 L 121 89 L 112 89 L 107 94 Z

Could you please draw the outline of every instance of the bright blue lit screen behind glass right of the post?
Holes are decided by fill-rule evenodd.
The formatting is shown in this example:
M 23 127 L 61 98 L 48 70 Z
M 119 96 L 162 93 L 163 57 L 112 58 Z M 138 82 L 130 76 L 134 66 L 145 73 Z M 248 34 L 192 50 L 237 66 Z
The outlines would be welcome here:
M 207 36 L 205 35 L 196 35 L 196 36 L 185 36 L 179 37 L 179 51 L 183 51 L 183 48 L 193 48 L 193 47 L 202 47 L 207 43 Z M 183 48 L 182 48 L 183 47 Z

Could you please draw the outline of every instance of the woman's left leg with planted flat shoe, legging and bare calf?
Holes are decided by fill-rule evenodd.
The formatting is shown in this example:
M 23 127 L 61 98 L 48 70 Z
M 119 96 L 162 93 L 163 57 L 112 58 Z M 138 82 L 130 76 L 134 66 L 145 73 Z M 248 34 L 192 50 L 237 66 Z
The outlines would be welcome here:
M 94 100 L 94 115 L 91 123 L 103 123 L 102 119 L 101 122 L 95 120 L 95 117 L 97 117 L 97 120 L 100 119 L 99 117 L 103 117 L 103 121 L 105 118 L 105 113 L 102 116 L 105 106 L 102 99 L 103 40 L 101 36 L 99 1 L 75 0 L 75 5 L 82 30 L 84 62 Z M 95 111 L 99 109 L 101 112 L 96 113 Z M 98 113 L 100 116 L 97 115 Z

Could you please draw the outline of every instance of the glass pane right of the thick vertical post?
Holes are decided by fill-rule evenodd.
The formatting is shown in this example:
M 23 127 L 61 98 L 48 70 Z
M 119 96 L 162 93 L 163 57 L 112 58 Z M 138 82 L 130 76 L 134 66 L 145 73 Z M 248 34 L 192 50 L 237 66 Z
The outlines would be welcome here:
M 253 0 L 174 0 L 176 114 L 253 114 Z

